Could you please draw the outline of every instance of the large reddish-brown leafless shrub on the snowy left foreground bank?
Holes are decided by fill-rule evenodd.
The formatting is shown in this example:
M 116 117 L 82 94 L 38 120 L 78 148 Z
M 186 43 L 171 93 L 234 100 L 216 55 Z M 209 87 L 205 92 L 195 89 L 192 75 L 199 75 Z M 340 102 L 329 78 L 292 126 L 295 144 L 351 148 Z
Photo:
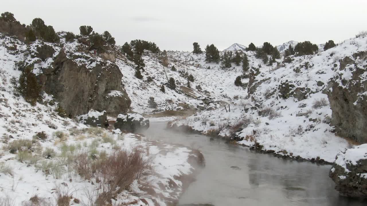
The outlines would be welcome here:
M 84 179 L 96 177 L 100 189 L 87 195 L 88 205 L 109 205 L 117 193 L 125 190 L 148 169 L 150 159 L 145 157 L 142 148 L 131 151 L 119 150 L 110 155 L 102 151 L 98 159 L 91 158 L 88 152 L 75 157 L 75 170 Z

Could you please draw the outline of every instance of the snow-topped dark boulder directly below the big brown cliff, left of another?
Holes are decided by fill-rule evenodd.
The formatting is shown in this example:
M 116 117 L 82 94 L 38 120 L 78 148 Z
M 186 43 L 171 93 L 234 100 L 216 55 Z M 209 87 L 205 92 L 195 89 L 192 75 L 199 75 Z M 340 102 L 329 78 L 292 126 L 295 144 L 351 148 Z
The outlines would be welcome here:
M 90 126 L 99 126 L 102 128 L 108 127 L 107 112 L 90 110 L 87 114 L 83 114 L 77 117 L 80 123 Z

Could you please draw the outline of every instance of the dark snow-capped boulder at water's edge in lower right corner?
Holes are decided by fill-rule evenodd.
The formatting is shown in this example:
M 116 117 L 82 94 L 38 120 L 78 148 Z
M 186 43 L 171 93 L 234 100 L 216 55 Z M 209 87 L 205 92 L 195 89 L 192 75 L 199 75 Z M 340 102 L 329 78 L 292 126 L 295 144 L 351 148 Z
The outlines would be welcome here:
M 367 144 L 340 152 L 329 177 L 342 196 L 367 197 Z

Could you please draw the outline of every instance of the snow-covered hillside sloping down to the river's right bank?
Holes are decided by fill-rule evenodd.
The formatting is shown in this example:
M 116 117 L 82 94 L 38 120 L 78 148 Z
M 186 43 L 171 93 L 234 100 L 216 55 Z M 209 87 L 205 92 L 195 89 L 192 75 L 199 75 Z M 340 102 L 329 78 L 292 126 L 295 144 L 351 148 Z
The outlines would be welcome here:
M 248 78 L 242 80 L 248 87 L 232 100 L 230 112 L 222 107 L 180 119 L 172 124 L 188 125 L 208 135 L 219 133 L 221 136 L 240 140 L 239 144 L 274 151 L 280 155 L 333 162 L 335 155 L 350 145 L 346 139 L 335 135 L 335 129 L 339 128 L 330 126 L 331 121 L 339 126 L 343 121 L 342 116 L 333 115 L 332 112 L 347 115 L 363 107 L 365 100 L 362 101 L 359 96 L 366 95 L 366 91 L 362 89 L 341 104 L 342 102 L 337 101 L 344 101 L 343 94 L 335 89 L 340 90 L 347 85 L 356 85 L 358 89 L 365 87 L 358 86 L 366 81 L 365 51 L 366 35 L 345 40 L 337 47 L 315 55 L 292 56 L 292 62 L 279 63 L 270 68 L 248 52 L 251 64 L 255 66 L 246 75 Z M 349 80 L 354 81 L 347 84 Z M 332 85 L 336 85 L 334 89 L 331 88 Z M 350 90 L 359 91 L 353 88 Z M 335 93 L 331 94 L 333 91 Z M 347 96 L 350 96 L 350 92 Z M 333 111 L 329 99 L 334 101 Z M 355 102 L 356 107 L 349 112 L 341 111 L 343 108 L 353 107 L 353 103 L 344 106 L 349 105 L 350 101 Z M 341 108 L 335 108 L 339 104 Z M 352 116 L 350 121 L 354 121 Z M 359 119 L 356 125 L 361 121 L 364 122 L 364 119 Z M 347 127 L 353 127 L 353 124 Z M 356 128 L 363 130 L 360 126 Z M 365 135 L 362 136 L 363 139 Z

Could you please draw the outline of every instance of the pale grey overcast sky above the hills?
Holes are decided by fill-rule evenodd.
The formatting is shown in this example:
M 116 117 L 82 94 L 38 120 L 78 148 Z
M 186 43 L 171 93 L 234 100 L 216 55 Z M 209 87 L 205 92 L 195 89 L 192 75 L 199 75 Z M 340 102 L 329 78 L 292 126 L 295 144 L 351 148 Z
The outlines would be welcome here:
M 335 43 L 367 29 L 367 0 L 12 0 L 1 2 L 27 25 L 40 17 L 56 31 L 80 25 L 108 30 L 116 44 L 143 39 L 162 50 L 219 50 L 233 43 L 279 45 L 289 40 Z

